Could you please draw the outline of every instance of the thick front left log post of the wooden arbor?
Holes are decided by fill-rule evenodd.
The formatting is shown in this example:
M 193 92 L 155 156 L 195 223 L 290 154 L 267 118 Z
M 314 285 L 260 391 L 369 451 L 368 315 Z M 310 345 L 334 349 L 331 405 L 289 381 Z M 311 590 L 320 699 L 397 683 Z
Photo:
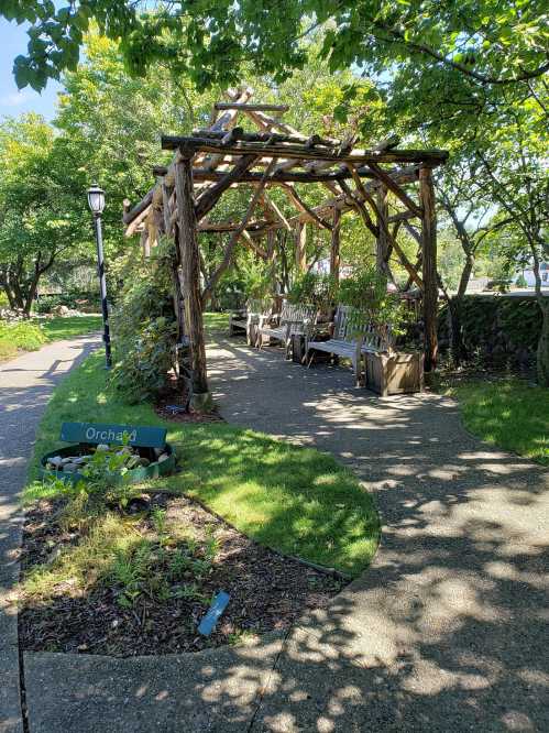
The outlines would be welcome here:
M 206 374 L 206 348 L 204 341 L 202 302 L 200 297 L 200 253 L 198 249 L 197 220 L 193 198 L 191 155 L 182 151 L 175 165 L 177 197 L 179 261 L 185 304 L 185 331 L 189 348 L 189 405 L 207 409 L 211 397 Z

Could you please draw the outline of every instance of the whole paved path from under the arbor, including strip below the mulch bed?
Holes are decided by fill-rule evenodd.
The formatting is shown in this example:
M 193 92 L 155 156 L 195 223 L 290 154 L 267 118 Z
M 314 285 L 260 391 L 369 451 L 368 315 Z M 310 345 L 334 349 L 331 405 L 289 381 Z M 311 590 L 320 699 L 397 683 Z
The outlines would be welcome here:
M 548 731 L 547 470 L 470 438 L 448 400 L 380 400 L 235 341 L 209 360 L 228 419 L 329 450 L 374 492 L 373 567 L 284 645 L 25 654 L 31 733 Z

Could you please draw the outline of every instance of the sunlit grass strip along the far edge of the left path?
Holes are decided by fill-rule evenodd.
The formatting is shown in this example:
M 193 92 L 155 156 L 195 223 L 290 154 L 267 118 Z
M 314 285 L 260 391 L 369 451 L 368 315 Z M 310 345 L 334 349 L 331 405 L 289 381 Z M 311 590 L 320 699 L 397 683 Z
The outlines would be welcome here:
M 50 341 L 69 339 L 99 328 L 100 316 L 69 316 L 47 320 L 35 318 L 17 324 L 0 321 L 0 361 L 13 359 L 20 351 L 36 351 Z

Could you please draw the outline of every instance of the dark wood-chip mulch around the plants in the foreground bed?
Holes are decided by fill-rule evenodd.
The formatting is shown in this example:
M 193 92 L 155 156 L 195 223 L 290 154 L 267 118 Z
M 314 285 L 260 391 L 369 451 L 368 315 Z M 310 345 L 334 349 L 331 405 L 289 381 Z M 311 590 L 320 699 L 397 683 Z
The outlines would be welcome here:
M 57 548 L 78 541 L 55 523 L 61 506 L 59 501 L 42 501 L 28 513 L 23 577 Z M 23 604 L 20 641 L 25 650 L 117 657 L 198 652 L 231 643 L 241 632 L 288 628 L 305 609 L 325 606 L 343 586 L 340 579 L 261 547 L 190 499 L 156 494 L 150 507 L 166 510 L 167 516 L 191 525 L 199 535 L 209 527 L 220 539 L 211 575 L 201 583 L 208 597 L 219 590 L 231 597 L 213 633 L 207 638 L 197 633 L 204 604 L 142 597 L 134 608 L 123 609 L 112 588 L 97 583 L 84 597 L 59 591 L 43 605 Z

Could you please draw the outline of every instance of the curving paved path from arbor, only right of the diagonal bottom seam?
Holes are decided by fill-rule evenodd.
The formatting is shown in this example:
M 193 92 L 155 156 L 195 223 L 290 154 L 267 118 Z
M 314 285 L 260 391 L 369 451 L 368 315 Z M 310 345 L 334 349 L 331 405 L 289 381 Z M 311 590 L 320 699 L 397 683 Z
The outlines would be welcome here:
M 549 731 L 549 472 L 452 401 L 381 400 L 278 350 L 210 349 L 233 423 L 328 450 L 374 493 L 372 568 L 285 645 L 253 731 Z

